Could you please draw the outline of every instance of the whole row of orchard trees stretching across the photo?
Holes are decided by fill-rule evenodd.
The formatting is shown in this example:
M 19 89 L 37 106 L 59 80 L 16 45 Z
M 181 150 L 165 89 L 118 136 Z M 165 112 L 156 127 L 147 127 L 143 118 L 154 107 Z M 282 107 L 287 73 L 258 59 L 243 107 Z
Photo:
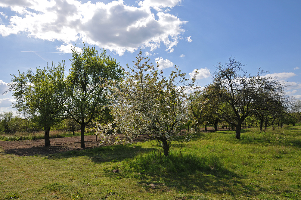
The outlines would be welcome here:
M 143 137 L 162 144 L 168 156 L 172 140 L 200 125 L 228 123 L 240 139 L 244 122 L 257 119 L 262 130 L 263 123 L 284 123 L 292 116 L 283 83 L 262 76 L 260 69 L 255 76 L 247 74 L 244 64 L 232 57 L 216 66 L 209 86 L 200 88 L 195 77 L 189 80 L 176 66 L 166 77 L 141 51 L 127 70 L 104 50 L 98 53 L 84 45 L 82 52 L 72 52 L 67 75 L 64 62 L 53 63 L 35 73 L 19 71 L 9 85 L 14 108 L 43 127 L 45 145 L 50 145 L 50 128 L 71 119 L 80 126 L 82 148 L 85 127 L 93 123 L 103 142 L 118 133 L 123 142 Z

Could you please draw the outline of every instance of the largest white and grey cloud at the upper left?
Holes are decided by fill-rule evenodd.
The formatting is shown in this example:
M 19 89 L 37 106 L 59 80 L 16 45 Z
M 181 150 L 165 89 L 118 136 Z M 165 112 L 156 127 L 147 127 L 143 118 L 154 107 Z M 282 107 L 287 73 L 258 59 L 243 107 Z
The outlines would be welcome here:
M 78 0 L 2 0 L 0 7 L 17 13 L 0 24 L 0 34 L 27 34 L 49 41 L 61 41 L 57 49 L 67 52 L 68 45 L 86 42 L 119 55 L 138 48 L 154 51 L 160 45 L 173 52 L 186 21 L 169 14 L 169 8 L 181 0 L 144 0 L 128 6 L 122 0 L 107 4 L 82 3 Z M 154 8 L 157 13 L 152 12 Z M 190 37 L 189 37 L 190 39 Z

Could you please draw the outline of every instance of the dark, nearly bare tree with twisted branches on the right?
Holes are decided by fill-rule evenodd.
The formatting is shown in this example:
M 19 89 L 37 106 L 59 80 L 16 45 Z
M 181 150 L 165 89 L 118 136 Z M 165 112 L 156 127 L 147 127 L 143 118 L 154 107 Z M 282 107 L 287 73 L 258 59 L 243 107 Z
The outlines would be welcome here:
M 262 106 L 265 103 L 277 101 L 282 105 L 286 99 L 285 85 L 277 77 L 263 76 L 267 71 L 258 69 L 255 76 L 247 74 L 245 64 L 232 56 L 225 65 L 218 63 L 215 67 L 217 71 L 210 85 L 213 89 L 209 92 L 209 98 L 216 98 L 221 102 L 213 107 L 219 111 L 216 113 L 220 117 L 236 127 L 236 139 L 240 139 L 241 124 L 250 114 L 266 110 Z

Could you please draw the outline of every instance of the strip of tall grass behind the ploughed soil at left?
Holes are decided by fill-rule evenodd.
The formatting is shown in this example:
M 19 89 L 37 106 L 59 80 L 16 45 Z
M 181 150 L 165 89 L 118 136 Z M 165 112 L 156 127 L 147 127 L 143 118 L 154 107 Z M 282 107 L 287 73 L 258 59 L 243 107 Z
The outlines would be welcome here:
M 85 135 L 94 135 L 94 133 L 89 132 L 85 133 Z M 50 131 L 50 138 L 61 138 L 61 137 L 72 137 L 72 136 L 80 136 L 80 132 L 75 132 L 73 135 L 70 132 L 60 132 L 60 131 Z M 33 140 L 33 139 L 44 139 L 44 132 L 39 131 L 36 133 L 13 133 L 13 134 L 5 134 L 0 133 L 0 140 L 2 141 L 17 141 L 17 140 Z

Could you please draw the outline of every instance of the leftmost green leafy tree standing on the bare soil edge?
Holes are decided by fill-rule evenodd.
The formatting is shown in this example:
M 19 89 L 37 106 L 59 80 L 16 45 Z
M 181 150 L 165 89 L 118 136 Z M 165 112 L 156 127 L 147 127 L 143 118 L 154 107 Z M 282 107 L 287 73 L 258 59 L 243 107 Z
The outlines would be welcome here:
M 64 63 L 52 63 L 51 67 L 37 68 L 36 73 L 19 71 L 9 83 L 8 91 L 13 91 L 16 99 L 13 107 L 43 127 L 45 146 L 50 145 L 50 127 L 61 120 L 58 102 L 63 102 L 64 70 Z

